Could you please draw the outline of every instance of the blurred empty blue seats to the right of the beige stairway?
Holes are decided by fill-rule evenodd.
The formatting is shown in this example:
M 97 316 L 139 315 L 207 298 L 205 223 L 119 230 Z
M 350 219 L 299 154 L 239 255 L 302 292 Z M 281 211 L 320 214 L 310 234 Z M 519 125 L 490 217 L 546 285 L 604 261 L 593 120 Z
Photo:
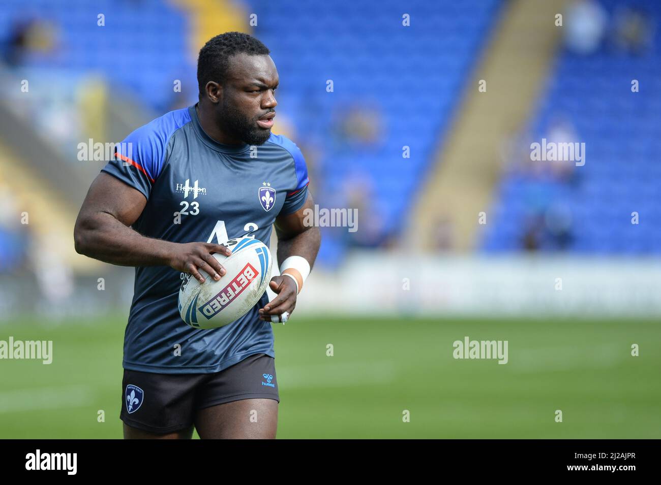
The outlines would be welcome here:
M 626 5 L 642 7 L 656 22 L 652 48 L 642 54 L 605 46 L 577 55 L 563 49 L 547 93 L 533 117 L 533 141 L 546 136 L 553 117 L 564 115 L 586 143 L 586 164 L 574 183 L 504 177 L 481 245 L 489 253 L 522 249 L 525 220 L 535 211 L 530 197 L 567 207 L 570 243 L 576 253 L 661 253 L 661 3 L 602 1 L 609 15 Z M 639 92 L 631 92 L 637 79 Z M 539 162 L 544 163 L 544 162 Z M 631 213 L 639 212 L 639 224 Z M 542 238 L 539 249 L 558 249 Z

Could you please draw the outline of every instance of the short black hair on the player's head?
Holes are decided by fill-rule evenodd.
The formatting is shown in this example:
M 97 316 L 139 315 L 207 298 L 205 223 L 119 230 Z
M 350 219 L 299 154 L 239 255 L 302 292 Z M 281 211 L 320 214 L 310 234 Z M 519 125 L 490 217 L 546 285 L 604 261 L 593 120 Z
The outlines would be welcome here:
M 229 58 L 240 53 L 269 55 L 270 50 L 260 40 L 243 32 L 225 32 L 210 39 L 200 49 L 198 57 L 198 88 L 200 98 L 204 95 L 207 82 L 224 84 L 229 67 Z

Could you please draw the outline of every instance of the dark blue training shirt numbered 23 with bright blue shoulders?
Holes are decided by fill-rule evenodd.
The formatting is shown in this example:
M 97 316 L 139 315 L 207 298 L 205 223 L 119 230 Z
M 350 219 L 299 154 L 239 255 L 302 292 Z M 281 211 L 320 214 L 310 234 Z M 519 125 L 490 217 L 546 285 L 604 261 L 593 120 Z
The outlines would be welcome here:
M 102 172 L 147 198 L 132 226 L 137 232 L 176 243 L 253 236 L 268 245 L 276 216 L 300 209 L 307 197 L 305 160 L 292 141 L 271 135 L 258 146 L 217 143 L 202 129 L 195 106 L 138 128 Z M 136 267 L 125 369 L 210 373 L 251 354 L 275 356 L 272 324 L 257 312 L 268 302 L 266 294 L 225 327 L 193 329 L 177 307 L 183 277 L 167 266 Z

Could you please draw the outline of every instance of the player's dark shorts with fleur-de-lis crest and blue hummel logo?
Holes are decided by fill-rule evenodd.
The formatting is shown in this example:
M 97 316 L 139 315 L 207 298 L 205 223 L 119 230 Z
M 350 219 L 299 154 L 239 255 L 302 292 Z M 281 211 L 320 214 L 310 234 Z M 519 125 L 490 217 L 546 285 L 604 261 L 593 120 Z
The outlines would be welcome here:
M 124 370 L 120 419 L 154 434 L 186 430 L 195 413 L 241 399 L 280 402 L 275 359 L 254 354 L 215 373 L 163 374 Z

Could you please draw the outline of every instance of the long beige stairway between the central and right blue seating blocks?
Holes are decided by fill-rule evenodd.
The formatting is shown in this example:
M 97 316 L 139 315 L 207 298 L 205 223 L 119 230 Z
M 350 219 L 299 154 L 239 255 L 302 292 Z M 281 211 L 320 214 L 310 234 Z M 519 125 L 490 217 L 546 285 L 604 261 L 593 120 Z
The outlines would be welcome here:
M 469 76 L 447 142 L 436 156 L 408 230 L 412 247 L 432 249 L 435 225 L 451 227 L 451 249 L 467 251 L 477 242 L 478 214 L 489 209 L 500 176 L 504 141 L 531 115 L 549 75 L 562 36 L 555 15 L 566 0 L 512 0 Z M 486 92 L 479 92 L 479 81 Z

